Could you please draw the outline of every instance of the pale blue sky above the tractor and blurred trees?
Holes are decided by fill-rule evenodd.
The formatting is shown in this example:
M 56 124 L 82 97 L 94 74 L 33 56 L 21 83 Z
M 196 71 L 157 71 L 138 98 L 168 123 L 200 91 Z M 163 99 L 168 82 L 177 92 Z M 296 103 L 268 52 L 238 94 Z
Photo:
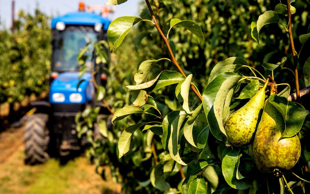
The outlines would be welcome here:
M 128 0 L 127 2 L 113 7 L 115 12 L 110 15 L 113 20 L 120 16 L 138 16 L 139 2 L 142 0 Z M 15 0 L 15 18 L 17 11 L 23 9 L 26 12 L 34 13 L 37 5 L 47 15 L 58 16 L 67 12 L 77 11 L 80 0 Z M 84 0 L 88 5 L 104 5 L 107 0 Z M 0 0 L 0 28 L 11 26 L 11 0 Z

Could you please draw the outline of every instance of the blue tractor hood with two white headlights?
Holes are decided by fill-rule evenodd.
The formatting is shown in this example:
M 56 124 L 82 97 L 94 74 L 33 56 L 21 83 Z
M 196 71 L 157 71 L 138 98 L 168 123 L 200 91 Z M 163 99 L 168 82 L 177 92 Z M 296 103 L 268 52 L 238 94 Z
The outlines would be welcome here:
M 83 104 L 92 99 L 94 84 L 90 72 L 78 79 L 78 72 L 64 72 L 53 80 L 50 88 L 50 102 L 63 104 Z M 77 88 L 78 83 L 79 88 Z

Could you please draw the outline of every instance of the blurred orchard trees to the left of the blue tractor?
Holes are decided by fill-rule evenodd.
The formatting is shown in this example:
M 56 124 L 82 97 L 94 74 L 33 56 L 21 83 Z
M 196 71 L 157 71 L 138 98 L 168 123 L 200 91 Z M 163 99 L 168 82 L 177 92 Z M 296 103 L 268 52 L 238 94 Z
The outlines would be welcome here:
M 51 60 L 49 18 L 39 9 L 34 16 L 19 11 L 15 31 L 0 32 L 0 103 L 21 102 L 48 89 Z

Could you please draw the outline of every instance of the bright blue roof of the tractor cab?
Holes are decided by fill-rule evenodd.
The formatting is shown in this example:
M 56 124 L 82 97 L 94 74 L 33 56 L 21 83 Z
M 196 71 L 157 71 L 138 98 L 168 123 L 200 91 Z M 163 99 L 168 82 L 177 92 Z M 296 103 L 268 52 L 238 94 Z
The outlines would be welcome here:
M 73 13 L 68 13 L 63 16 L 54 17 L 52 19 L 51 27 L 55 29 L 56 23 L 62 21 L 65 25 L 95 25 L 95 23 L 101 23 L 105 31 L 108 30 L 108 27 L 111 23 L 107 18 L 103 18 L 100 15 L 78 11 Z

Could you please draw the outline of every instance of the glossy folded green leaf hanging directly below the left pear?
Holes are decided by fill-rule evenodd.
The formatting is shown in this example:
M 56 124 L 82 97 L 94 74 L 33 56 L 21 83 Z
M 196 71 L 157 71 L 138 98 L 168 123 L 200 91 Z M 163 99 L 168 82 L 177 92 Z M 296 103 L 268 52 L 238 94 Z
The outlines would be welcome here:
M 251 186 L 246 179 L 241 178 L 241 174 L 238 171 L 237 163 L 241 156 L 240 150 L 232 150 L 224 156 L 222 161 L 224 179 L 230 187 L 235 189 L 247 189 Z M 237 176 L 239 176 L 240 179 L 237 179 Z

